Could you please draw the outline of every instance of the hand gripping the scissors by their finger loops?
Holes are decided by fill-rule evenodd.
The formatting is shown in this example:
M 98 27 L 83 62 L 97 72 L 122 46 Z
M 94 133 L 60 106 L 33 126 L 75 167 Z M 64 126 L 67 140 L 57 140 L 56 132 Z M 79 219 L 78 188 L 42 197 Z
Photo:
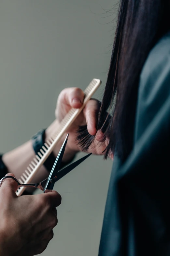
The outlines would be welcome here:
M 61 196 L 52 191 L 18 197 L 16 189 L 12 179 L 4 180 L 0 187 L 0 255 L 40 254 L 53 237 Z

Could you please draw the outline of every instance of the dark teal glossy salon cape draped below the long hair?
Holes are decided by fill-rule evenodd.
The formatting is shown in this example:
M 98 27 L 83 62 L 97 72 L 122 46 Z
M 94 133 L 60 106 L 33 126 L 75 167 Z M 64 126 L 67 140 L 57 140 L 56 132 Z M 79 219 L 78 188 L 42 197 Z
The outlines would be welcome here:
M 170 256 L 170 33 L 143 67 L 134 148 L 115 156 L 99 256 Z

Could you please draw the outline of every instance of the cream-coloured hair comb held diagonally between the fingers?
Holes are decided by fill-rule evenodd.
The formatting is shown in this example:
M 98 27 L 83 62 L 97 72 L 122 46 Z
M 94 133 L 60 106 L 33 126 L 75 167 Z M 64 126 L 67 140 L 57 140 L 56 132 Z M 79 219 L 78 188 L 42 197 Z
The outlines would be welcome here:
M 61 121 L 59 128 L 56 130 L 56 133 L 50 138 L 50 140 L 47 140 L 44 143 L 44 146 L 40 149 L 40 152 L 35 155 L 34 160 L 29 164 L 27 169 L 24 171 L 24 173 L 21 175 L 19 182 L 22 184 L 30 183 L 41 165 L 46 161 L 48 156 L 53 151 L 53 148 L 55 145 L 59 142 L 61 137 L 64 135 L 66 130 L 70 127 L 70 125 L 74 122 L 78 114 L 82 111 L 82 109 L 85 107 L 86 103 L 90 100 L 92 95 L 95 93 L 97 88 L 100 86 L 101 80 L 99 79 L 93 79 L 89 86 L 85 89 L 84 94 L 85 98 L 83 101 L 83 105 L 80 109 L 74 109 L 72 108 L 64 117 L 64 119 Z M 16 191 L 17 196 L 21 196 L 23 191 L 25 190 L 25 187 L 21 187 Z

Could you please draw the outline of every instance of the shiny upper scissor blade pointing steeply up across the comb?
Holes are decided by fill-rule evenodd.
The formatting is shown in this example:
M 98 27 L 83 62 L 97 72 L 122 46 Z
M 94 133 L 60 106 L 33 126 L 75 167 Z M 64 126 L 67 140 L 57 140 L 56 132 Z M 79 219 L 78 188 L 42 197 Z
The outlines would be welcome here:
M 55 163 L 54 163 L 54 165 L 52 167 L 52 170 L 50 172 L 47 184 L 46 184 L 45 189 L 44 189 L 44 193 L 52 191 L 52 189 L 54 187 L 54 183 L 51 182 L 51 179 L 53 180 L 57 176 L 57 173 L 58 173 L 58 170 L 60 168 L 60 165 L 61 165 L 61 162 L 62 162 L 62 158 L 63 158 L 63 155 L 64 155 L 65 146 L 67 144 L 68 135 L 69 135 L 69 133 L 67 134 L 67 136 L 65 138 L 65 141 L 64 141 L 64 143 L 63 143 L 63 145 L 62 145 L 62 147 L 60 149 L 60 152 L 58 153 L 58 156 L 57 156 L 57 158 L 55 160 Z

